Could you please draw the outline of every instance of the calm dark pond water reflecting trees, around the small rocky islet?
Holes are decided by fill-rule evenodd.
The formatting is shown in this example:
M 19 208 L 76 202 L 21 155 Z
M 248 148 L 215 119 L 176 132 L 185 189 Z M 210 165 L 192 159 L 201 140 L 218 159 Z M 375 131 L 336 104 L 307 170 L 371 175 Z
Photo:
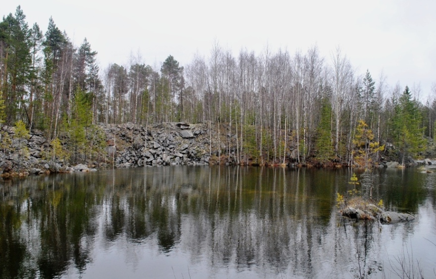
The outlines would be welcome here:
M 435 278 L 436 173 L 375 173 L 373 197 L 417 216 L 393 225 L 338 216 L 351 175 L 147 167 L 1 181 L 0 278 L 398 278 L 401 266 Z

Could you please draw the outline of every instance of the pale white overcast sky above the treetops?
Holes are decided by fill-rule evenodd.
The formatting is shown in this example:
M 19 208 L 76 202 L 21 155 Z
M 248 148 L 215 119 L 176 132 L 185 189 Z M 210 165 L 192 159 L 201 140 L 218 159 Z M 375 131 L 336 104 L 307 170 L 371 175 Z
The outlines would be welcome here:
M 75 45 L 86 37 L 102 69 L 138 51 L 152 66 L 168 55 L 185 65 L 197 52 L 208 57 L 215 42 L 235 56 L 267 45 L 305 53 L 317 44 L 329 63 L 339 46 L 359 74 L 421 84 L 422 101 L 436 82 L 435 0 L 5 0 L 0 12 L 17 5 L 44 33 L 53 16 Z

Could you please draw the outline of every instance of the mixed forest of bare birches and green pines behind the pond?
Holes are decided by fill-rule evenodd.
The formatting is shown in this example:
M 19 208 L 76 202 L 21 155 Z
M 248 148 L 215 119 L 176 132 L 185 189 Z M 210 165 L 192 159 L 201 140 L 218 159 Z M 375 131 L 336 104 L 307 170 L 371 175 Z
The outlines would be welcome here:
M 215 43 L 186 65 L 168 55 L 159 67 L 138 54 L 101 68 L 97 55 L 53 18 L 44 33 L 20 6 L 3 16 L 1 123 L 24 123 L 64 146 L 74 139 L 80 152 L 99 123 L 204 122 L 227 135 L 218 156 L 232 153 L 237 164 L 368 166 L 386 152 L 402 163 L 435 155 L 436 83 L 423 104 L 419 86 L 358 73 L 339 48 L 331 57 L 317 46 L 234 56 Z

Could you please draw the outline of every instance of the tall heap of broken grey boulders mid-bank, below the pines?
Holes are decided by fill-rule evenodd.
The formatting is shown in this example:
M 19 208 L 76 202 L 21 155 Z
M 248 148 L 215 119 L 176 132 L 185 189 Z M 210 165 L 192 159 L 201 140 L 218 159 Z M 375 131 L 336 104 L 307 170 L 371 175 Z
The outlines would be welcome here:
M 122 124 L 103 128 L 108 138 L 116 133 L 115 167 L 207 165 L 210 162 L 210 132 L 205 124 L 162 123 L 148 129 Z

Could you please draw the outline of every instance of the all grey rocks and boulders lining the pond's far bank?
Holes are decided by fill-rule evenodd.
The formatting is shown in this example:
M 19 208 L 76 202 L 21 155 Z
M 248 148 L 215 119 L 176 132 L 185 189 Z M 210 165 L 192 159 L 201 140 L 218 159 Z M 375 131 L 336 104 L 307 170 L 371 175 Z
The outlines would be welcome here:
M 219 158 L 218 150 L 232 150 L 233 136 L 218 135 L 217 125 L 210 123 L 169 122 L 147 127 L 133 124 L 98 124 L 105 138 L 102 160 L 86 161 L 71 165 L 64 160 L 46 160 L 44 153 L 51 147 L 42 131 L 32 130 L 29 137 L 19 140 L 14 137 L 13 127 L 0 127 L 0 175 L 2 177 L 72 171 L 94 171 L 105 167 L 144 167 L 175 165 L 236 164 L 235 156 Z M 225 129 L 224 129 L 225 130 Z M 9 140 L 5 140 L 8 138 Z M 61 142 L 62 142 L 62 137 Z M 220 140 L 218 140 L 218 138 Z M 65 143 L 61 143 L 65 144 Z M 230 147 L 226 144 L 230 144 Z M 17 150 L 26 148 L 19 157 Z M 228 154 L 228 153 L 227 153 Z M 221 154 L 222 155 L 222 154 Z M 86 158 L 85 158 L 86 159 Z M 219 161 L 221 159 L 221 161 Z M 79 163 L 79 162 L 78 162 Z M 429 159 L 409 162 L 410 166 L 421 163 L 434 165 Z M 303 166 L 304 167 L 304 166 Z M 398 167 L 396 162 L 381 162 L 379 167 Z

